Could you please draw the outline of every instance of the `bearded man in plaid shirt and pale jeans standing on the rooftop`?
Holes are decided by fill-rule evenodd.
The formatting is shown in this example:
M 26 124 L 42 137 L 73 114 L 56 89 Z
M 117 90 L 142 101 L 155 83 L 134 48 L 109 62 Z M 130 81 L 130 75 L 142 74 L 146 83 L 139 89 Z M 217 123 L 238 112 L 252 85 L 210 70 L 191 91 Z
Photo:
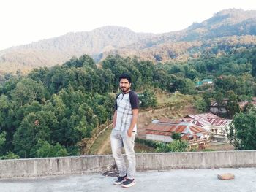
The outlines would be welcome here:
M 115 113 L 113 115 L 113 130 L 111 133 L 111 148 L 113 158 L 119 171 L 119 177 L 114 181 L 115 185 L 129 188 L 135 185 L 135 134 L 137 131 L 139 99 L 134 91 L 131 91 L 132 80 L 129 74 L 121 74 L 119 86 L 121 93 L 116 96 Z M 124 147 L 128 160 L 128 168 L 124 164 L 121 149 Z

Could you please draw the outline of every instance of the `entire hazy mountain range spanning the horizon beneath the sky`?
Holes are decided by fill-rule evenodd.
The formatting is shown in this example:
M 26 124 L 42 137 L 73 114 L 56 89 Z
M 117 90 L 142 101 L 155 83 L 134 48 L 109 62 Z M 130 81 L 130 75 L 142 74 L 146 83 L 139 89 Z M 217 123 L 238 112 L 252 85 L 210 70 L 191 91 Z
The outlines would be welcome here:
M 62 64 L 73 55 L 83 54 L 95 61 L 115 54 L 153 62 L 187 61 L 207 51 L 225 55 L 237 48 L 255 47 L 255 35 L 256 11 L 227 9 L 202 23 L 165 34 L 138 34 L 128 28 L 106 26 L 11 47 L 0 51 L 0 66 L 1 72 L 26 71 L 34 66 Z

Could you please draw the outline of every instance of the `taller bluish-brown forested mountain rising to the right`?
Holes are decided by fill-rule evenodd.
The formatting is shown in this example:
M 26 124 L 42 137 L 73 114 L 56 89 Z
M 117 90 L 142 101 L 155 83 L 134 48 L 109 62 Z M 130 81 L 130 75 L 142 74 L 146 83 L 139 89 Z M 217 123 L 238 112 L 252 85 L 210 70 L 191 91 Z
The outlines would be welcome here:
M 202 53 L 224 53 L 234 48 L 256 46 L 256 11 L 226 9 L 217 12 L 202 23 L 151 39 L 143 39 L 133 45 L 102 53 L 138 56 L 151 61 L 187 61 Z

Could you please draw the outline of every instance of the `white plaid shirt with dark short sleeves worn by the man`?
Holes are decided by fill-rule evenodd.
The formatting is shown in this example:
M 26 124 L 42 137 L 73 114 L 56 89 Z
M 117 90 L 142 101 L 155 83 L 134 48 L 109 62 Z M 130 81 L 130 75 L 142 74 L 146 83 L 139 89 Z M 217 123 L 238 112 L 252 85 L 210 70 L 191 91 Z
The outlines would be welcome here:
M 116 97 L 116 127 L 117 131 L 128 131 L 132 122 L 132 110 L 138 109 L 139 99 L 134 91 L 129 93 L 120 93 Z M 137 131 L 137 125 L 133 128 L 133 131 Z

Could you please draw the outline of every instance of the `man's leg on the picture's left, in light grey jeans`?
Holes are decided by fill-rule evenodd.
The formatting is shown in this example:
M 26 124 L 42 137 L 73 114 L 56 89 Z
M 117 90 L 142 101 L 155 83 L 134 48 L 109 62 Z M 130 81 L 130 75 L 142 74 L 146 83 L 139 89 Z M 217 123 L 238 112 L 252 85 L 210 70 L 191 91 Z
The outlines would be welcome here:
M 113 129 L 110 136 L 110 140 L 111 140 L 111 149 L 113 153 L 113 158 L 116 161 L 119 177 L 124 177 L 126 175 L 126 167 L 124 164 L 124 158 L 121 154 L 123 141 L 122 141 L 120 132 L 121 131 L 116 131 L 115 129 Z

